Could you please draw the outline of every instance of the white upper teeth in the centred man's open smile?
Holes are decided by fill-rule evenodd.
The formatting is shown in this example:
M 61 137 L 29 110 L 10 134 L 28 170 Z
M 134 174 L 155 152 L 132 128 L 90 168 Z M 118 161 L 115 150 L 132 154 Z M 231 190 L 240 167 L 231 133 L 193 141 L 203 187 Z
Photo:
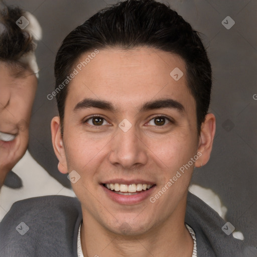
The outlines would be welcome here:
M 144 191 L 147 191 L 155 186 L 151 184 L 142 184 L 142 183 L 130 184 L 130 185 L 110 183 L 110 184 L 102 184 L 102 185 L 107 189 L 109 189 L 110 191 L 113 191 L 114 193 L 117 193 L 120 195 L 136 195 Z

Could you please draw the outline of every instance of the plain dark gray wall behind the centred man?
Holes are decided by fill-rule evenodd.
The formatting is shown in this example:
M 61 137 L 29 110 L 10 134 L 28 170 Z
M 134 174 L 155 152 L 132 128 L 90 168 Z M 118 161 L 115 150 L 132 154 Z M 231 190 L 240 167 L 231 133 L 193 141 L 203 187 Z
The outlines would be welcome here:
M 36 16 L 43 39 L 36 51 L 39 87 L 33 107 L 29 150 L 53 177 L 69 187 L 57 170 L 51 143 L 50 121 L 57 114 L 54 88 L 55 54 L 64 37 L 95 12 L 115 0 L 9 0 Z M 193 183 L 211 188 L 228 208 L 226 218 L 245 239 L 257 246 L 257 2 L 253 0 L 170 0 L 192 27 L 203 33 L 213 67 L 210 112 L 217 118 L 214 148 L 209 163 L 195 170 Z M 235 22 L 229 30 L 225 17 Z M 226 21 L 225 21 L 226 22 Z M 224 22 L 223 22 L 224 23 Z M 228 21 L 227 26 L 231 25 Z

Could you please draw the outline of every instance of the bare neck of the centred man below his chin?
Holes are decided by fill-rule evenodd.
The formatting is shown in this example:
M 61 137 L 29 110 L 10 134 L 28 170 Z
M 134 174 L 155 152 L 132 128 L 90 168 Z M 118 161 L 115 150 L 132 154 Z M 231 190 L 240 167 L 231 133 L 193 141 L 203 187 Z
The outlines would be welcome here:
M 165 221 L 144 234 L 117 234 L 103 227 L 88 212 L 83 212 L 81 245 L 84 257 L 141 256 L 191 257 L 193 239 L 185 227 L 186 205 L 177 208 Z M 182 212 L 181 212 L 182 211 Z

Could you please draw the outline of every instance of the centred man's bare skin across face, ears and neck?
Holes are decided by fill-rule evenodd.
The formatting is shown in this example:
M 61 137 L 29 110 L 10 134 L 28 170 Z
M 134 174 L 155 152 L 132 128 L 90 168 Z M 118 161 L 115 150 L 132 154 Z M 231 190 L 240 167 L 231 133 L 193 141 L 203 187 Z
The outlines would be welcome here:
M 175 67 L 184 73 L 178 81 L 170 76 Z M 74 111 L 84 98 L 110 101 L 115 110 Z M 145 102 L 164 98 L 178 101 L 184 110 L 139 112 Z M 104 118 L 102 125 L 92 123 L 94 114 Z M 160 125 L 156 115 L 171 121 Z M 123 119 L 132 124 L 127 132 L 118 126 Z M 194 166 L 209 160 L 215 117 L 207 114 L 198 137 L 196 104 L 182 58 L 151 48 L 100 50 L 69 84 L 63 137 L 59 117 L 53 118 L 51 130 L 60 172 L 80 175 L 72 187 L 82 205 L 84 256 L 192 255 L 193 240 L 184 225 L 187 190 Z M 201 157 L 155 203 L 148 197 L 119 204 L 101 186 L 110 179 L 147 180 L 156 184 L 154 196 L 197 152 Z

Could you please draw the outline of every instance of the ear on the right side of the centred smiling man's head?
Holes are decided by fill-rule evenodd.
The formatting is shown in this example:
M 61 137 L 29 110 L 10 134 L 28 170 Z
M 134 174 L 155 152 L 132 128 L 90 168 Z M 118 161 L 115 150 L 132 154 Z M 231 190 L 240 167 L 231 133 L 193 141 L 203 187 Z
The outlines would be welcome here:
M 195 167 L 201 167 L 205 165 L 211 155 L 213 139 L 216 130 L 216 119 L 214 114 L 208 113 L 205 116 L 205 120 L 201 125 L 201 132 L 199 137 L 198 152 L 199 159 L 195 162 Z

